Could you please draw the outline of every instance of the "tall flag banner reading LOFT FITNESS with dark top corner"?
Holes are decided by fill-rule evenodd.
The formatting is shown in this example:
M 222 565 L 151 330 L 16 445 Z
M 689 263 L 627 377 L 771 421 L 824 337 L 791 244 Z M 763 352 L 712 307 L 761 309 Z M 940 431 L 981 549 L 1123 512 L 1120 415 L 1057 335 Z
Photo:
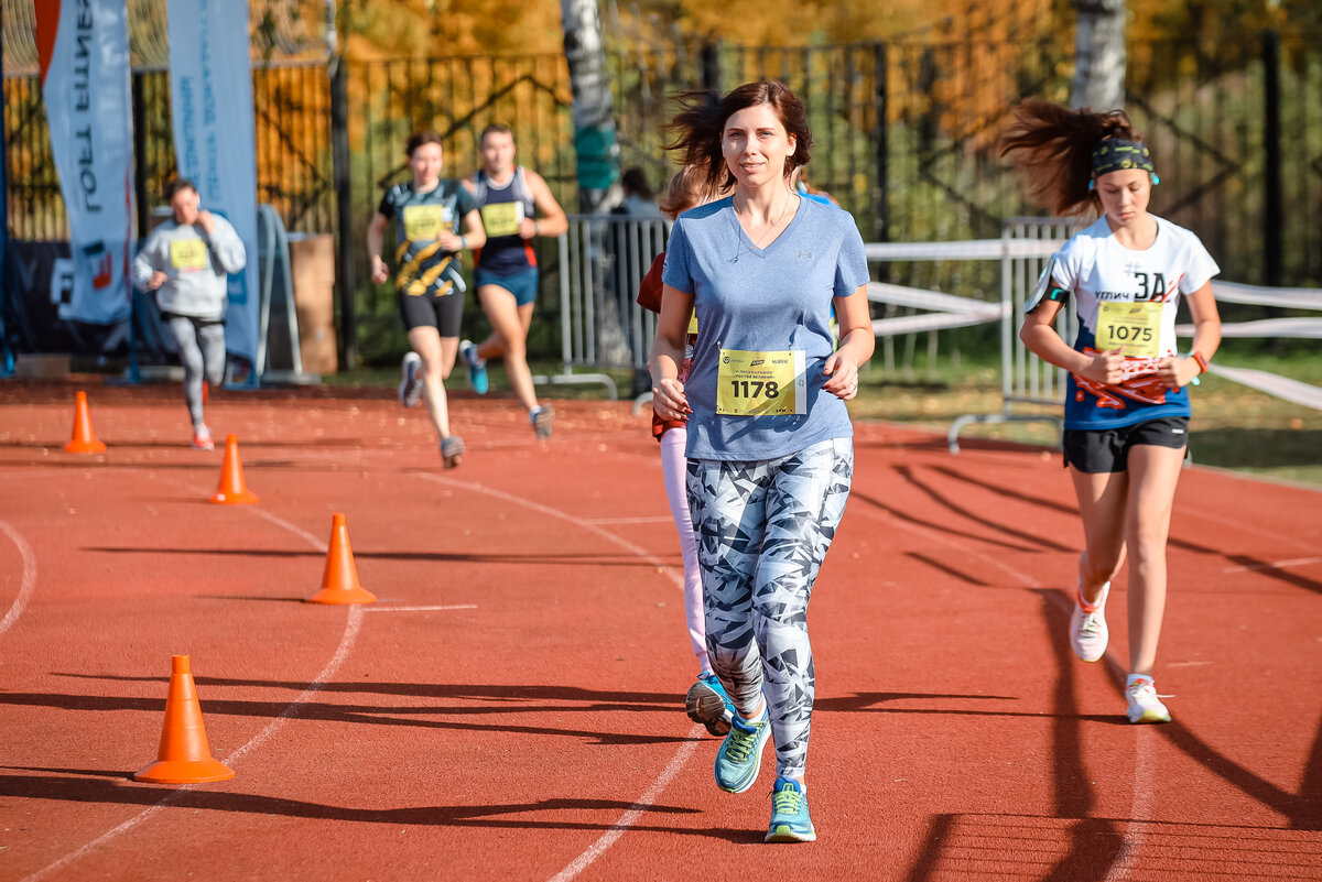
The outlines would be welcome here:
M 61 318 L 128 318 L 134 119 L 124 0 L 36 0 L 41 94 L 69 217 L 74 287 Z

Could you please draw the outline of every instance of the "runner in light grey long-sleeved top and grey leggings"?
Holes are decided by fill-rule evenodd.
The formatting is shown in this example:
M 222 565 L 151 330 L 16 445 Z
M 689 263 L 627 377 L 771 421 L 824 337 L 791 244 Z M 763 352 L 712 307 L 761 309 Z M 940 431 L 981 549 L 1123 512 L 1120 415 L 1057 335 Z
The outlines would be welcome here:
M 165 198 L 175 217 L 152 232 L 134 259 L 134 285 L 155 292 L 161 321 L 178 346 L 193 448 L 213 450 L 202 404 L 206 383 L 219 386 L 225 379 L 227 276 L 243 269 L 247 256 L 229 220 L 198 210 L 190 181 L 171 181 Z

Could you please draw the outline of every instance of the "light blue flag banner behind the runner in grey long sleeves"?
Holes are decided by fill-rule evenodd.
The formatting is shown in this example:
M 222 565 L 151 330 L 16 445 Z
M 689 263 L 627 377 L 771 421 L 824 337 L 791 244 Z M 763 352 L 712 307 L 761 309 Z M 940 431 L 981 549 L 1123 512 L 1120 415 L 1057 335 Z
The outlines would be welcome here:
M 167 13 L 178 173 L 243 240 L 247 264 L 230 276 L 225 349 L 253 363 L 255 375 L 260 294 L 247 0 L 169 0 Z

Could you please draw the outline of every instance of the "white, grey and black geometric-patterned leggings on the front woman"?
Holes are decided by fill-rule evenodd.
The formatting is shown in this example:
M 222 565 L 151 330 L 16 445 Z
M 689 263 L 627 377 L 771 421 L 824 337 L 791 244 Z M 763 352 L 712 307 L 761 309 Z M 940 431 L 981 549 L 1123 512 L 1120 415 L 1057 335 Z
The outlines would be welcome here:
M 711 668 L 747 717 L 765 696 L 776 774 L 808 763 L 816 675 L 808 598 L 845 514 L 851 438 L 780 459 L 689 459 Z

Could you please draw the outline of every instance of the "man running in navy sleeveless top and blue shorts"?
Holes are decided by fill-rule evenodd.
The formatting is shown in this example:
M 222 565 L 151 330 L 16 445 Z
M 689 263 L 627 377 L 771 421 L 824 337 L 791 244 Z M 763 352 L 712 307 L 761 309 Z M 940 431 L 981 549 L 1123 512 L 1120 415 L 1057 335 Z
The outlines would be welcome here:
M 479 395 L 488 390 L 486 362 L 504 359 L 509 383 L 537 437 L 549 438 L 555 411 L 538 403 L 527 367 L 527 329 L 538 284 L 531 242 L 561 235 L 568 230 L 568 218 L 542 176 L 514 164 L 514 132 L 508 125 L 483 129 L 479 153 L 483 166 L 464 181 L 464 187 L 476 199 L 486 228 L 486 244 L 476 257 L 475 284 L 492 333 L 481 343 L 465 339 L 460 351 Z

